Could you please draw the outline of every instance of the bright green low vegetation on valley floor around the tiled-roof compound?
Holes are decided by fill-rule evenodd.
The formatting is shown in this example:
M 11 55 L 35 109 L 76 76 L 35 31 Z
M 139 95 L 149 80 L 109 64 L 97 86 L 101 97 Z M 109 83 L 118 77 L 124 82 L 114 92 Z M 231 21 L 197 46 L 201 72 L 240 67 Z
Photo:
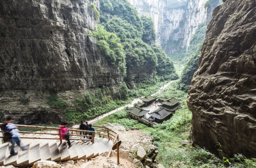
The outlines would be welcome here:
M 175 167 L 183 165 L 184 168 L 225 168 L 228 166 L 232 168 L 254 168 L 256 166 L 256 159 L 248 159 L 241 154 L 235 155 L 234 158 L 227 161 L 227 158 L 220 159 L 208 150 L 198 146 L 191 147 L 188 145 L 183 147 L 180 144 L 181 141 L 190 139 L 192 114 L 186 105 L 187 94 L 176 89 L 176 87 L 177 82 L 173 82 L 164 89 L 165 92 L 158 94 L 158 96 L 175 96 L 175 98 L 181 99 L 184 107 L 175 111 L 172 118 L 154 126 L 154 128 L 133 120 L 124 110 L 102 118 L 94 123 L 94 125 L 102 126 L 109 122 L 121 124 L 127 129 L 138 127 L 141 131 L 154 138 L 154 145 L 159 149 L 156 161 L 163 164 L 165 168 L 169 168 L 173 164 L 176 164 Z M 229 165 L 228 162 L 232 163 Z

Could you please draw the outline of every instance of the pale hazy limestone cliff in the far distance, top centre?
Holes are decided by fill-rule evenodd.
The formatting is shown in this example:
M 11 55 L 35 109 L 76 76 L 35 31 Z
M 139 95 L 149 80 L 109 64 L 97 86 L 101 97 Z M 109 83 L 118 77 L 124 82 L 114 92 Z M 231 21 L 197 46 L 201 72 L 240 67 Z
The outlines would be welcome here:
M 211 19 L 218 0 L 129 0 L 140 15 L 151 16 L 156 30 L 156 43 L 161 44 L 166 54 L 175 54 L 178 49 L 189 46 L 191 36 L 199 24 Z

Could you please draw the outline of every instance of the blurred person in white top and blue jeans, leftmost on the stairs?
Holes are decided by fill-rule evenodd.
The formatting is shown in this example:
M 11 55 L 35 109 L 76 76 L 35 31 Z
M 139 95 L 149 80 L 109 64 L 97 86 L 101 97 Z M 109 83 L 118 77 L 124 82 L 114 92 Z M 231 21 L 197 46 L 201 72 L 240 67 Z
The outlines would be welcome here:
M 4 121 L 4 126 L 2 126 L 2 129 L 4 131 L 4 141 L 10 142 L 12 145 L 10 147 L 11 152 L 10 155 L 14 156 L 17 155 L 18 152 L 14 151 L 14 145 L 15 143 L 21 148 L 21 150 L 27 150 L 27 148 L 20 144 L 20 137 L 19 137 L 19 130 L 17 129 L 17 126 L 13 124 L 12 117 L 6 117 Z

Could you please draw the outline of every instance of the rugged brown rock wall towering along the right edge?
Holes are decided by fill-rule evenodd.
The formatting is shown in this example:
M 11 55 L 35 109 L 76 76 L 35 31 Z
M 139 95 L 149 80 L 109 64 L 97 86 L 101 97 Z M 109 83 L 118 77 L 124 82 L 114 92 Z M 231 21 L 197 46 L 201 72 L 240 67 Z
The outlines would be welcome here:
M 188 91 L 192 144 L 256 157 L 256 2 L 214 9 Z M 221 152 L 218 153 L 221 155 Z

